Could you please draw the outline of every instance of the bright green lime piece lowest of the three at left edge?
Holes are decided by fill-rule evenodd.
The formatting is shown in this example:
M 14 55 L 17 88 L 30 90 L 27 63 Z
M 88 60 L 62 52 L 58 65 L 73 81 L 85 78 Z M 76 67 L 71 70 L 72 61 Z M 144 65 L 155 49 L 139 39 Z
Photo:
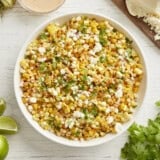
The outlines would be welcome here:
M 9 145 L 6 137 L 0 135 L 0 160 L 4 160 L 8 154 Z

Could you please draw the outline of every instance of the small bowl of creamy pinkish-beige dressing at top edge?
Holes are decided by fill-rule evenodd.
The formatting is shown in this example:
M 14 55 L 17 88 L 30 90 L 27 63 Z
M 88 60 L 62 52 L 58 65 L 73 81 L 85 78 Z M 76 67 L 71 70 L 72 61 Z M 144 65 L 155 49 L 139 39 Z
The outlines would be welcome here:
M 58 9 L 65 0 L 18 0 L 20 5 L 31 12 L 48 13 Z

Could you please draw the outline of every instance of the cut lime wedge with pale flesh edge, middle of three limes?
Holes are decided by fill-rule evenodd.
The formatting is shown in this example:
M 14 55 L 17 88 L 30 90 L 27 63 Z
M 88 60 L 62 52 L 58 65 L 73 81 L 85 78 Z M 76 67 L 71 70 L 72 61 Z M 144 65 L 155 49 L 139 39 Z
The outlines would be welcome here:
M 0 134 L 14 134 L 18 131 L 16 121 L 8 116 L 0 117 Z

